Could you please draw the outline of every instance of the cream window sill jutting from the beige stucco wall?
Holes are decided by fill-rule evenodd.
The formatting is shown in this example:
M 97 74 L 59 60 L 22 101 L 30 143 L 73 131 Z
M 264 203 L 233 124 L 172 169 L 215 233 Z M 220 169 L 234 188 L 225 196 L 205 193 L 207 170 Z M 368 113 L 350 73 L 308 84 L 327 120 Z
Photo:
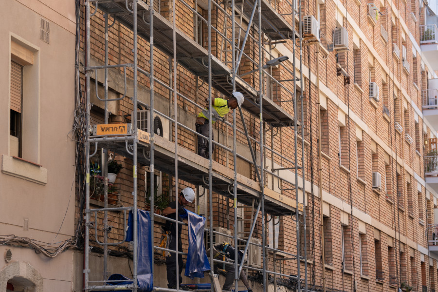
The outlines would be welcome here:
M 16 156 L 2 156 L 1 172 L 40 185 L 47 184 L 47 169 L 37 163 Z

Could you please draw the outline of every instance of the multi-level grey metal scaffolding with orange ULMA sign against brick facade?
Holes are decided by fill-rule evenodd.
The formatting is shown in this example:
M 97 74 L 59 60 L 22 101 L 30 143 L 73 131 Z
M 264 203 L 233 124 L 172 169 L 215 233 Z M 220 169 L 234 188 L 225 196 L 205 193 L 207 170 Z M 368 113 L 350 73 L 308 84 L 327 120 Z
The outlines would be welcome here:
M 267 291 L 268 275 L 274 277 L 274 287 L 276 286 L 275 277 L 283 277 L 296 281 L 296 291 L 308 290 L 307 276 L 307 243 L 306 236 L 300 239 L 302 234 L 306 234 L 306 191 L 305 191 L 305 149 L 304 149 L 304 109 L 303 95 L 297 96 L 297 81 L 301 92 L 304 91 L 304 80 L 302 74 L 302 51 L 303 51 L 303 25 L 301 15 L 301 1 L 293 1 L 289 5 L 288 13 L 279 14 L 277 11 L 279 3 L 266 0 L 225 0 L 217 2 L 215 0 L 207 1 L 207 17 L 198 11 L 198 0 L 194 1 L 194 7 L 188 4 L 185 0 L 171 0 L 171 15 L 166 19 L 161 13 L 162 1 L 150 0 L 149 3 L 143 0 L 86 0 L 85 1 L 85 87 L 86 87 L 86 113 L 87 113 L 87 136 L 86 136 L 86 207 L 85 207 L 85 264 L 84 264 L 84 288 L 89 291 L 110 291 L 110 290 L 130 290 L 137 291 L 137 254 L 141 251 L 137 247 L 137 203 L 140 195 L 138 194 L 138 171 L 140 167 L 148 167 L 150 176 L 150 193 L 154 194 L 154 173 L 160 171 L 171 175 L 175 183 L 175 197 L 178 200 L 178 185 L 179 181 L 183 180 L 196 186 L 203 186 L 208 189 L 209 206 L 213 205 L 213 194 L 219 194 L 232 200 L 234 209 L 234 234 L 223 234 L 214 230 L 213 226 L 213 208 L 210 208 L 208 214 L 209 226 L 206 229 L 209 236 L 210 245 L 214 244 L 214 236 L 222 235 L 234 239 L 234 246 L 244 243 L 244 254 L 248 253 L 250 245 L 259 246 L 262 250 L 262 268 L 245 266 L 243 263 L 238 265 L 235 262 L 235 279 L 238 280 L 238 274 L 243 268 L 255 270 L 263 275 L 263 292 Z M 298 7 L 297 6 L 298 4 Z M 193 16 L 193 37 L 184 33 L 178 27 L 177 6 L 183 7 L 185 11 L 189 11 Z M 94 10 L 91 12 L 91 10 Z M 91 65 L 91 19 L 97 17 L 96 12 L 100 11 L 104 17 L 104 52 L 105 62 L 101 65 Z M 212 24 L 212 11 L 216 12 L 216 21 L 219 20 L 217 15 L 220 14 L 223 19 L 223 29 Z M 109 24 L 109 19 L 113 19 L 113 23 Z M 292 25 L 285 18 L 292 20 Z M 111 64 L 109 60 L 109 29 L 115 22 L 123 24 L 131 31 L 132 62 Z M 229 23 L 228 23 L 229 22 Z M 200 25 L 201 24 L 201 25 Z M 221 23 L 222 24 L 222 23 Z M 199 27 L 201 27 L 199 31 Z M 206 28 L 207 39 L 198 39 L 198 36 L 205 34 Z M 215 35 L 216 56 L 213 54 L 212 42 Z M 243 39 L 242 39 L 243 36 Z M 138 40 L 143 39 L 149 45 L 149 60 L 148 68 L 139 66 L 138 55 Z M 218 39 L 221 39 L 220 49 Z M 279 59 L 272 54 L 272 49 L 278 43 L 286 41 L 292 42 L 292 68 L 289 68 L 284 63 L 279 63 Z M 201 42 L 201 44 L 199 43 Z M 245 52 L 245 46 L 251 43 L 254 48 L 254 56 Z M 204 48 L 202 44 L 206 45 Z M 268 49 L 266 48 L 268 46 Z M 163 80 L 156 77 L 155 73 L 155 54 L 161 52 L 168 57 L 169 62 L 169 83 L 166 84 Z M 298 51 L 298 52 L 296 52 Z M 141 52 L 146 55 L 146 52 Z M 256 55 L 257 53 L 257 55 Z M 254 70 L 240 73 L 241 61 L 245 59 L 250 63 Z M 296 68 L 296 62 L 299 61 L 300 67 Z M 281 66 L 287 72 L 290 79 L 277 80 L 273 76 L 272 65 Z M 109 98 L 109 70 L 118 69 L 124 76 L 125 95 L 117 98 Z M 213 91 L 216 94 L 231 96 L 235 91 L 241 92 L 245 99 L 242 106 L 238 107 L 238 112 L 235 110 L 232 115 L 232 121 L 226 118 L 220 119 L 219 123 L 226 127 L 227 135 L 232 129 L 233 145 L 219 143 L 212 138 L 213 126 L 209 123 L 209 136 L 202 136 L 192 130 L 187 125 L 184 125 L 178 119 L 179 102 L 189 104 L 196 110 L 203 110 L 198 102 L 198 97 L 195 101 L 192 98 L 184 96 L 178 91 L 178 70 L 187 70 L 196 78 L 196 96 L 199 95 L 199 88 L 203 85 L 207 86 L 208 100 L 207 104 L 211 104 Z M 104 71 L 104 97 L 98 96 L 98 74 Z M 297 72 L 299 72 L 299 77 Z M 240 74 L 239 74 L 240 73 Z M 108 104 L 111 101 L 122 100 L 127 95 L 127 76 L 132 74 L 132 104 L 133 110 L 131 114 L 131 123 L 110 125 L 109 124 L 109 109 Z M 139 76 L 149 80 L 149 104 L 138 99 Z M 94 84 L 91 81 L 94 79 Z M 246 78 L 244 78 L 246 77 Z M 248 79 L 250 78 L 250 79 Z M 252 78 L 252 79 L 251 79 Z M 198 80 L 201 81 L 199 86 Z M 253 80 L 250 85 L 248 80 Z M 267 81 L 266 81 L 267 80 Z M 292 85 L 286 85 L 291 82 Z M 289 84 L 291 84 L 289 83 Z M 154 107 L 154 95 L 156 95 L 155 87 L 166 90 L 169 94 L 169 102 L 173 103 L 173 112 L 166 115 L 164 112 L 157 110 Z M 274 97 L 275 92 L 282 91 L 283 95 L 288 96 L 284 100 L 278 98 L 278 94 Z M 91 88 L 95 88 L 97 98 L 104 103 L 104 123 L 100 125 L 91 123 Z M 301 102 L 300 102 L 301 101 Z M 284 106 L 287 104 L 289 110 Z M 299 104 L 301 104 L 299 108 Z M 139 129 L 138 125 L 138 108 L 145 107 L 149 113 L 147 119 L 147 131 Z M 208 118 L 212 120 L 211 106 L 208 107 Z M 290 113 L 292 111 L 293 115 Z M 299 114 L 298 114 L 299 113 Z M 173 115 L 172 115 L 173 114 Z M 154 133 L 154 115 L 165 118 L 170 121 L 171 130 L 169 137 L 162 137 Z M 246 118 L 245 118 L 245 115 Z M 258 124 L 253 125 L 254 131 L 258 131 L 257 135 L 251 136 L 245 119 L 255 117 Z M 300 115 L 300 117 L 298 117 Z M 237 120 L 241 122 L 242 128 L 237 127 Z M 106 131 L 101 131 L 101 127 L 107 126 Z M 173 129 L 172 129 L 173 127 Z M 266 129 L 268 127 L 268 129 Z M 281 129 L 290 129 L 293 132 L 292 155 L 289 157 L 281 151 L 274 148 L 274 137 Z M 202 136 L 209 141 L 209 159 L 201 158 L 197 154 L 179 145 L 180 131 L 187 131 L 195 136 Z M 267 145 L 267 133 L 271 132 L 271 145 Z M 172 134 L 173 132 L 173 134 Z M 275 134 L 274 134 L 275 132 Z M 300 133 L 299 133 L 300 132 Z M 246 137 L 248 148 L 251 152 L 251 159 L 237 153 L 237 135 Z M 213 143 L 218 149 L 226 153 L 226 165 L 215 161 L 212 158 Z M 300 144 L 301 147 L 298 147 Z M 253 149 L 253 145 L 254 148 Z M 289 145 L 288 145 L 289 146 Z M 104 205 L 103 208 L 90 207 L 90 158 L 94 156 L 98 148 L 103 149 L 103 176 L 105 177 L 104 190 Z M 301 148 L 301 149 L 300 149 Z M 91 151 L 93 149 L 93 151 Z M 131 157 L 133 161 L 132 172 L 132 202 L 131 206 L 113 207 L 108 203 L 108 178 L 107 166 L 108 151 L 113 153 Z M 258 151 L 258 153 L 257 153 Z M 92 152 L 92 153 L 91 153 Z M 299 153 L 301 155 L 299 155 Z M 232 156 L 232 168 L 229 168 L 230 158 Z M 268 167 L 267 157 L 271 157 L 271 166 Z M 276 158 L 274 158 L 276 157 Z M 237 159 L 250 163 L 253 167 L 255 178 L 248 178 L 237 172 Z M 280 161 L 275 163 L 275 161 Z M 270 169 L 269 169 L 270 168 Z M 284 171 L 292 171 L 294 177 L 284 175 Z M 292 173 L 291 172 L 291 173 Z M 301 172 L 302 177 L 299 177 Z M 289 174 L 289 173 L 288 173 Z M 268 188 L 267 178 L 271 177 L 272 190 Z M 146 177 L 146 172 L 145 172 Z M 302 182 L 300 183 L 300 179 Z M 274 182 L 277 182 L 278 193 L 273 191 Z M 172 182 L 172 180 L 171 180 Z M 146 184 L 145 184 L 146 187 Z M 285 195 L 287 192 L 295 195 Z M 299 198 L 302 195 L 302 198 Z M 200 204 L 200 192 L 197 192 L 197 207 Z M 228 202 L 228 200 L 227 200 Z M 237 203 L 245 206 L 252 206 L 252 214 L 250 220 L 250 229 L 245 234 L 245 238 L 239 238 L 237 230 Z M 152 230 L 154 226 L 154 218 L 163 220 L 171 220 L 159 214 L 154 214 L 154 195 L 150 197 L 151 205 L 151 224 Z M 199 212 L 199 208 L 197 208 Z M 119 212 L 123 214 L 124 230 L 126 230 L 127 213 L 132 211 L 133 214 L 133 284 L 130 285 L 108 285 L 108 261 L 109 247 L 123 244 L 123 240 L 110 240 L 110 228 L 108 224 L 109 212 Z M 229 212 L 229 210 L 227 211 Z M 98 214 L 103 214 L 101 224 L 98 224 Z M 296 223 L 296 254 L 288 253 L 269 247 L 267 243 L 266 224 L 268 223 L 267 214 L 273 218 L 278 216 L 291 216 Z M 302 214 L 302 222 L 299 221 L 299 214 Z M 178 210 L 176 218 L 178 217 Z M 93 221 L 94 220 L 94 221 Z M 257 220 L 261 221 L 262 240 L 261 244 L 257 245 L 252 242 L 251 238 L 254 233 Z M 272 219 L 274 220 L 274 219 Z M 227 218 L 227 225 L 229 225 Z M 177 233 L 179 224 L 176 224 Z M 98 229 L 102 228 L 103 240 L 98 239 Z M 300 229 L 303 229 L 302 232 Z M 90 280 L 90 254 L 91 242 L 90 232 L 94 230 L 96 235 L 96 244 L 103 246 L 103 273 L 102 279 L 97 281 Z M 100 231 L 100 230 L 99 230 Z M 153 232 L 153 231 L 152 231 Z M 240 234 L 242 235 L 242 234 Z M 275 237 L 275 236 L 274 236 Z M 152 236 L 153 238 L 153 236 Z M 301 240 L 304 242 L 304 254 L 301 254 Z M 154 246 L 156 250 L 166 250 Z M 178 242 L 176 250 L 178 251 Z M 170 253 L 181 253 L 172 250 L 166 250 Z M 268 251 L 273 252 L 273 271 L 269 271 L 267 267 Z M 281 252 L 287 258 L 276 259 L 276 252 Z M 182 253 L 186 254 L 186 253 Z M 236 257 L 237 258 L 237 249 Z M 296 260 L 296 274 L 286 274 L 277 271 L 276 264 L 282 260 Z M 221 261 L 214 258 L 213 249 L 210 248 L 209 260 L 212 267 L 219 264 Z M 304 262 L 304 272 L 301 271 L 301 261 Z M 152 265 L 153 266 L 153 265 Z M 152 267 L 153 269 L 153 267 Z M 178 261 L 177 261 L 178 271 Z M 152 270 L 153 272 L 153 270 Z M 303 275 L 304 274 L 304 275 Z M 178 274 L 177 274 L 178 277 Z M 213 280 L 212 280 L 213 281 Z M 304 284 L 302 282 L 304 281 Z M 178 279 L 177 279 L 178 283 Z M 238 281 L 235 281 L 235 291 L 238 291 Z M 212 285 L 212 290 L 213 290 Z M 303 287 L 302 287 L 303 286 Z M 178 291 L 177 289 L 168 289 L 162 287 L 154 287 L 156 291 Z

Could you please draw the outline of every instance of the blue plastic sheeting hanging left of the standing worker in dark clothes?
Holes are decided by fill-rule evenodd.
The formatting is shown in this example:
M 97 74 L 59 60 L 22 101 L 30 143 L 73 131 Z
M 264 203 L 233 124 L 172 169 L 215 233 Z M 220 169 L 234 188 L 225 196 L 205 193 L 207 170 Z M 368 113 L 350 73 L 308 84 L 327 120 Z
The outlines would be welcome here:
M 134 240 L 133 213 L 129 212 L 126 241 Z M 150 216 L 148 211 L 137 210 L 137 282 L 139 292 L 151 292 L 153 289 L 152 245 Z

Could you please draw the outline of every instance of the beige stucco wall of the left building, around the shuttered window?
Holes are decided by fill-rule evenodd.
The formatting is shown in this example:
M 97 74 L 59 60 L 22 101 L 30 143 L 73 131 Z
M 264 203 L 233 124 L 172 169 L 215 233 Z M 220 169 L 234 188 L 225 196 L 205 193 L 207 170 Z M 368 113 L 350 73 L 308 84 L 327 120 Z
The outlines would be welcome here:
M 0 11 L 0 235 L 59 242 L 74 234 L 75 149 L 74 142 L 67 137 L 74 111 L 74 1 L 6 0 L 3 4 Z M 50 44 L 39 39 L 41 18 L 50 22 Z M 32 162 L 41 166 L 10 156 L 11 39 L 34 52 L 35 79 L 24 80 L 24 87 L 32 89 L 36 116 L 32 129 L 26 131 L 39 131 L 31 156 Z M 26 115 L 24 110 L 23 115 Z M 29 222 L 28 231 L 23 230 L 25 218 Z M 13 250 L 13 261 L 26 262 L 41 274 L 44 291 L 72 290 L 72 251 L 49 259 L 31 249 L 7 245 L 1 246 L 0 253 L 6 248 Z M 7 265 L 11 263 L 0 261 L 0 270 Z

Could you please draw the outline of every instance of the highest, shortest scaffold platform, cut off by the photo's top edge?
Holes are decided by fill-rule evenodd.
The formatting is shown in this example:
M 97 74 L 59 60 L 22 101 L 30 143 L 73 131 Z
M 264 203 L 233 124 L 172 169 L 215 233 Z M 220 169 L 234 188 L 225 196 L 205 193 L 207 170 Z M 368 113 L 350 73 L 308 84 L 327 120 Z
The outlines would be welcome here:
M 236 10 L 240 12 L 243 3 L 243 15 L 249 19 L 256 2 L 256 0 L 236 1 Z M 257 9 L 253 23 L 258 27 Z M 289 22 L 275 11 L 274 7 L 266 0 L 261 0 L 261 29 L 263 33 L 272 40 L 292 39 L 295 35 L 293 27 Z

